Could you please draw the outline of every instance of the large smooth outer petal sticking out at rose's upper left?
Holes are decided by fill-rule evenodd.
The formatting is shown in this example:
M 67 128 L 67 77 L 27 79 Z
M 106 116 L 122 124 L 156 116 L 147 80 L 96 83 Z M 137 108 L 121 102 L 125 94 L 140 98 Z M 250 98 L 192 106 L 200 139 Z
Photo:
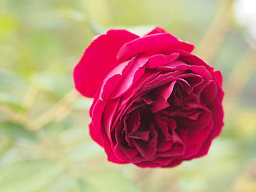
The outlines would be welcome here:
M 84 96 L 93 98 L 106 74 L 118 66 L 118 50 L 126 42 L 138 38 L 126 30 L 109 30 L 94 39 L 74 68 L 75 88 Z

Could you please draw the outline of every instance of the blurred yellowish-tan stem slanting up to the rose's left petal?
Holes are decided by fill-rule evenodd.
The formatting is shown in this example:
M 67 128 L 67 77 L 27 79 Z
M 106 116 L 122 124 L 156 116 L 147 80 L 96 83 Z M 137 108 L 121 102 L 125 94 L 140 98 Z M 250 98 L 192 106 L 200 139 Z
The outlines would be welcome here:
M 54 120 L 61 120 L 69 114 L 71 106 L 74 101 L 77 100 L 79 94 L 76 90 L 71 90 L 69 94 L 66 94 L 59 102 L 47 110 L 44 114 L 40 115 L 38 118 L 31 120 L 27 123 L 27 127 L 30 130 L 40 130 L 47 123 Z

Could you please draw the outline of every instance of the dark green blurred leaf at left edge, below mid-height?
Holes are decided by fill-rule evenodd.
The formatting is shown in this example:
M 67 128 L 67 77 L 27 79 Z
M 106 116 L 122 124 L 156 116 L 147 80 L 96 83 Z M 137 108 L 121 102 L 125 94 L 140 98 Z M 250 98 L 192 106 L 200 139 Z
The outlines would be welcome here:
M 24 138 L 30 141 L 37 140 L 34 132 L 26 130 L 24 126 L 14 122 L 0 122 L 0 134 L 16 141 Z

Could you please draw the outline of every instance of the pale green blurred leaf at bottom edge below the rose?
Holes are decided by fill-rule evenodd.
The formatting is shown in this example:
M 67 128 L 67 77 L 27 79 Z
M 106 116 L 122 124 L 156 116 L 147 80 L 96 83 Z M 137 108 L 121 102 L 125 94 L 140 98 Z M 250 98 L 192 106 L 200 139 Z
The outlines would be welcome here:
M 130 178 L 126 178 L 124 175 L 114 171 L 101 171 L 100 173 L 97 174 L 88 174 L 85 178 L 85 181 L 86 183 L 89 184 L 89 191 L 142 191 L 133 181 L 130 180 Z

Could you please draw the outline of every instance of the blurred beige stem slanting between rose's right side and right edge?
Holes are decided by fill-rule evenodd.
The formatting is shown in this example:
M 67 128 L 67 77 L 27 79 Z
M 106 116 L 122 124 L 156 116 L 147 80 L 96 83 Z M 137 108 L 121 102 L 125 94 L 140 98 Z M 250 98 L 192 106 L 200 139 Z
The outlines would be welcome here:
M 234 108 L 239 95 L 242 94 L 242 90 L 254 75 L 254 71 L 256 70 L 254 65 L 255 55 L 256 50 L 253 48 L 247 50 L 241 61 L 234 67 L 230 77 L 226 80 L 224 90 L 229 90 L 229 92 L 226 92 L 225 97 L 229 99 L 229 101 L 226 101 L 228 103 L 226 114 Z

